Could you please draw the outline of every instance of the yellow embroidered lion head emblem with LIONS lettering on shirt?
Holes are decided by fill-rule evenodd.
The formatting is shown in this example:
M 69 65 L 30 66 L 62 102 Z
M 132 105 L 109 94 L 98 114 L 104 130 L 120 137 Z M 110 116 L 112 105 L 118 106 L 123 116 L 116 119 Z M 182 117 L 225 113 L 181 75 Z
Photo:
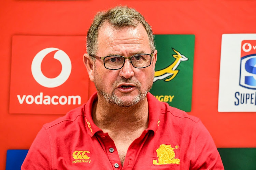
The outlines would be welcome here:
M 175 148 L 171 148 L 171 145 L 161 144 L 160 147 L 156 150 L 158 162 L 157 160 L 153 160 L 154 165 L 163 165 L 163 164 L 180 164 L 180 159 L 175 157 L 174 149 L 178 149 L 179 146 L 175 146 Z

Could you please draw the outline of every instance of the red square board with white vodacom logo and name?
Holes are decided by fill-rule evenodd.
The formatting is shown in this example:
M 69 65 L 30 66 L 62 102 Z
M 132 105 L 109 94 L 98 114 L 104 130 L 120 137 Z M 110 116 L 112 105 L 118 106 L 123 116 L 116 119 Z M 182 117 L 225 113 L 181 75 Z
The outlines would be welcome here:
M 84 36 L 13 36 L 10 113 L 65 114 L 85 103 Z

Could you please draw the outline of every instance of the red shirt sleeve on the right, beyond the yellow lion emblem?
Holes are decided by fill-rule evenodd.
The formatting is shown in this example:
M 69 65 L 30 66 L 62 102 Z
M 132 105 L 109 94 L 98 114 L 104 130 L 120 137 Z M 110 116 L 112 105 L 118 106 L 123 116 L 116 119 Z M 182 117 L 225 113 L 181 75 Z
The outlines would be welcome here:
M 197 123 L 194 147 L 195 157 L 194 160 L 191 161 L 192 167 L 190 169 L 224 169 L 221 156 L 219 155 L 216 145 L 210 133 L 201 121 Z

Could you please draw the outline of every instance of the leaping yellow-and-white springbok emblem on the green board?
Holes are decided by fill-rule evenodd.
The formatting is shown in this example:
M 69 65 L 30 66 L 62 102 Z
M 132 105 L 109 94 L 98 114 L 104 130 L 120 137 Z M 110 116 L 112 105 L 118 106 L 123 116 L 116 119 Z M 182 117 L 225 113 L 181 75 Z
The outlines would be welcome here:
M 168 67 L 156 71 L 155 76 L 154 76 L 154 82 L 156 80 L 163 80 L 169 76 L 171 76 L 171 77 L 168 79 L 165 79 L 165 81 L 172 80 L 179 72 L 179 70 L 176 70 L 176 68 L 179 66 L 181 61 L 188 60 L 188 58 L 186 58 L 184 55 L 182 55 L 179 51 L 176 51 L 174 48 L 172 48 L 172 50 L 176 53 L 176 54 L 172 55 L 172 57 L 175 58 L 176 60 Z

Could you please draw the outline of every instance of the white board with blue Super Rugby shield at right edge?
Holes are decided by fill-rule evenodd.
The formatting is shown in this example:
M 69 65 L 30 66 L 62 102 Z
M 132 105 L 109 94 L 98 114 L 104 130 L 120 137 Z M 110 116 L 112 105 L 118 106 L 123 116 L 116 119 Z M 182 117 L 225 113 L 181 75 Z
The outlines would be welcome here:
M 256 34 L 222 35 L 218 111 L 256 111 Z

